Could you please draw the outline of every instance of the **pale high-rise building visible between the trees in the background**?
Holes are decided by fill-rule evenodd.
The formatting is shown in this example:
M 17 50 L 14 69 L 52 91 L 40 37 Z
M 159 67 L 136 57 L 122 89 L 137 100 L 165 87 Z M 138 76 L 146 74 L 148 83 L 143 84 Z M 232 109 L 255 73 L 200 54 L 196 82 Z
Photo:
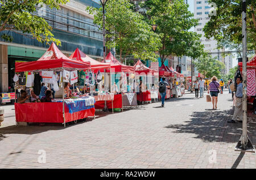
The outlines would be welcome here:
M 209 1 L 205 0 L 194 0 L 194 18 L 199 19 L 199 25 L 195 27 L 195 32 L 199 33 L 201 36 L 200 41 L 204 44 L 204 50 L 211 53 L 213 57 L 218 57 L 221 61 L 220 52 L 217 49 L 217 41 L 213 38 L 204 37 L 203 28 L 204 25 L 209 21 Z

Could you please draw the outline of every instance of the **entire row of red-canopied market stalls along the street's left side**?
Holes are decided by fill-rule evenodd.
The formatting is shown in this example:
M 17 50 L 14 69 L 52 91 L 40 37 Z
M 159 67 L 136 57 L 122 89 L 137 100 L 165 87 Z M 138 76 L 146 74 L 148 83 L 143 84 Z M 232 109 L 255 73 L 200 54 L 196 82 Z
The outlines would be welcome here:
M 54 43 L 38 61 L 16 62 L 15 72 L 19 91 L 46 96 L 47 88 L 42 87 L 48 84 L 48 89 L 54 92 L 51 102 L 15 103 L 16 122 L 64 123 L 64 126 L 67 122 L 95 117 L 95 109 L 114 112 L 123 106 L 157 99 L 159 79 L 163 76 L 170 84 L 174 80 L 184 81 L 183 75 L 173 68 L 163 65 L 154 70 L 141 61 L 127 66 L 112 53 L 105 62 L 96 61 L 79 49 L 68 58 Z M 179 94 L 177 87 L 176 92 L 172 92 L 172 87 L 167 89 L 166 98 Z

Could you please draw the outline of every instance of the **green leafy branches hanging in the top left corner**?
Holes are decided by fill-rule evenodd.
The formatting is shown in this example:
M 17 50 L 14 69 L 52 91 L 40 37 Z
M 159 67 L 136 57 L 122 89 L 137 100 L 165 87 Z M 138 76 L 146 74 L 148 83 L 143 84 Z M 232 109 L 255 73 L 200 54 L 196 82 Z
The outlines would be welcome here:
M 0 32 L 14 31 L 23 34 L 30 33 L 32 38 L 39 42 L 54 41 L 57 45 L 60 41 L 54 38 L 52 27 L 46 20 L 35 15 L 36 7 L 47 5 L 50 8 L 59 9 L 60 3 L 67 3 L 68 0 L 1 0 L 0 1 Z M 12 41 L 13 37 L 3 34 L 2 38 Z

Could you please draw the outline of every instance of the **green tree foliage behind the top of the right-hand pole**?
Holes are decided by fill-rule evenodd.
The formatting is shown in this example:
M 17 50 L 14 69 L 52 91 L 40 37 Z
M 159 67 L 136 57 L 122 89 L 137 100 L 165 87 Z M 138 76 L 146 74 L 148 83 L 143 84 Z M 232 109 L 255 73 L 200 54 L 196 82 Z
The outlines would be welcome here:
M 233 44 L 242 44 L 242 1 L 241 0 L 209 0 L 215 3 L 216 15 L 209 16 L 210 20 L 203 31 L 205 37 L 214 37 L 218 42 L 225 39 Z M 247 48 L 256 47 L 255 0 L 246 0 L 247 5 Z

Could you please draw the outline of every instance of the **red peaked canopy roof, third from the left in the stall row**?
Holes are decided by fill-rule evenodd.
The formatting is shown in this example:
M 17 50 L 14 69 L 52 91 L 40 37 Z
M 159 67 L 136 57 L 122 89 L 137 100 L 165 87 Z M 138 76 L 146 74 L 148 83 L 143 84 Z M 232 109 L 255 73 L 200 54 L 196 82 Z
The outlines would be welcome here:
M 133 66 L 126 66 L 123 63 L 117 61 L 112 53 L 109 53 L 106 57 L 106 63 L 110 63 L 111 68 L 114 68 L 115 72 L 135 72 Z M 109 71 L 107 71 L 109 72 Z

